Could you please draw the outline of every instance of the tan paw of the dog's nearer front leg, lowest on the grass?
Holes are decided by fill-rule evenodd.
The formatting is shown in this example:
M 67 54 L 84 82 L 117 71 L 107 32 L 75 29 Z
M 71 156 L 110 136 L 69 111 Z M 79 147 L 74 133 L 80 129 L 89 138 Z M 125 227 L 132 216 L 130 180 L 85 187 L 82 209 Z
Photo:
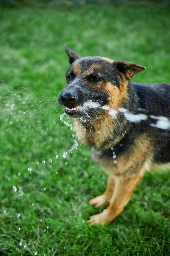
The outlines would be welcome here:
M 99 223 L 99 224 L 104 225 L 106 223 L 109 223 L 109 222 L 113 221 L 113 219 L 115 217 L 116 216 L 110 214 L 108 209 L 105 209 L 103 212 L 101 212 L 99 214 L 90 216 L 90 219 L 88 220 L 88 224 L 89 225 L 94 225 L 96 223 Z

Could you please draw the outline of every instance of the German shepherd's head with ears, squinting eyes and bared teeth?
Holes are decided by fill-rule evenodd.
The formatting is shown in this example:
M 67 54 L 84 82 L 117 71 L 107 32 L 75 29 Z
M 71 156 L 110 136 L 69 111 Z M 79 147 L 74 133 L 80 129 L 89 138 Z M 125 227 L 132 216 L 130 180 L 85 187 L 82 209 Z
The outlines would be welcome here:
M 59 96 L 59 103 L 65 106 L 65 113 L 72 117 L 97 116 L 104 105 L 120 108 L 128 97 L 128 80 L 145 69 L 122 60 L 82 58 L 68 45 L 65 45 L 65 51 L 70 68 L 66 73 L 66 87 Z

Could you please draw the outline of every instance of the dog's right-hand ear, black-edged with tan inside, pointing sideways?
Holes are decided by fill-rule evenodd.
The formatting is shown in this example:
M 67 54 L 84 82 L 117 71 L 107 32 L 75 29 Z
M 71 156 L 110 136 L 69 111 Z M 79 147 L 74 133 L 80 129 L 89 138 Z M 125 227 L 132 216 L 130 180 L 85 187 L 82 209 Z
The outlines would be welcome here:
M 142 67 L 122 60 L 115 61 L 114 65 L 120 72 L 122 72 L 126 76 L 127 80 L 146 69 L 146 67 Z

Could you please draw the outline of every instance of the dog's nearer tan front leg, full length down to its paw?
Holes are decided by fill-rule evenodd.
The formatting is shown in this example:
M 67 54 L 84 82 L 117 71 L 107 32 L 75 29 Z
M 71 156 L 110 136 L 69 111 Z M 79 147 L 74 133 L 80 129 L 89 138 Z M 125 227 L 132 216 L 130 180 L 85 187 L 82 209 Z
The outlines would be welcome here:
M 113 221 L 113 219 L 123 211 L 130 198 L 130 195 L 136 188 L 139 181 L 142 179 L 143 175 L 144 171 L 143 168 L 141 168 L 139 172 L 132 177 L 123 177 L 122 175 L 117 176 L 115 179 L 114 193 L 108 208 L 102 213 L 91 216 L 88 224 L 105 224 Z

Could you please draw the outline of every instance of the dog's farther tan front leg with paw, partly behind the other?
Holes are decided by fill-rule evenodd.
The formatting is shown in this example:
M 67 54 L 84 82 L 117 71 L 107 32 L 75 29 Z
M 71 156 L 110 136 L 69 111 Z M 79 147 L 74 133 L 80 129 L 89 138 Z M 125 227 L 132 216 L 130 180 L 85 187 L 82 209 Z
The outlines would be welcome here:
M 103 195 L 99 195 L 96 198 L 92 198 L 89 201 L 89 204 L 94 205 L 95 208 L 98 208 L 101 205 L 109 204 L 109 202 L 112 198 L 113 192 L 114 192 L 114 187 L 115 187 L 115 181 L 114 181 L 113 177 L 110 175 L 108 177 L 107 188 L 106 188 L 105 192 L 103 193 Z

